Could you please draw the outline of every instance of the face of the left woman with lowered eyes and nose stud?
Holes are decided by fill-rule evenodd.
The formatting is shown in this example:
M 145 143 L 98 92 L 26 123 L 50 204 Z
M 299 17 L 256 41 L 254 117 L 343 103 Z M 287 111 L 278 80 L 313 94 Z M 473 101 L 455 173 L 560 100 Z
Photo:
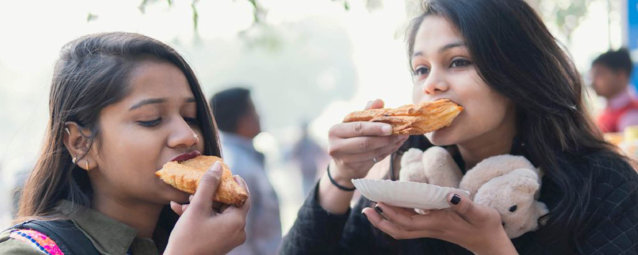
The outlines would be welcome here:
M 91 151 L 98 167 L 89 171 L 93 188 L 122 201 L 188 201 L 188 194 L 155 176 L 175 156 L 204 152 L 186 77 L 172 64 L 145 61 L 132 71 L 129 86 L 128 96 L 100 113 L 101 136 Z

